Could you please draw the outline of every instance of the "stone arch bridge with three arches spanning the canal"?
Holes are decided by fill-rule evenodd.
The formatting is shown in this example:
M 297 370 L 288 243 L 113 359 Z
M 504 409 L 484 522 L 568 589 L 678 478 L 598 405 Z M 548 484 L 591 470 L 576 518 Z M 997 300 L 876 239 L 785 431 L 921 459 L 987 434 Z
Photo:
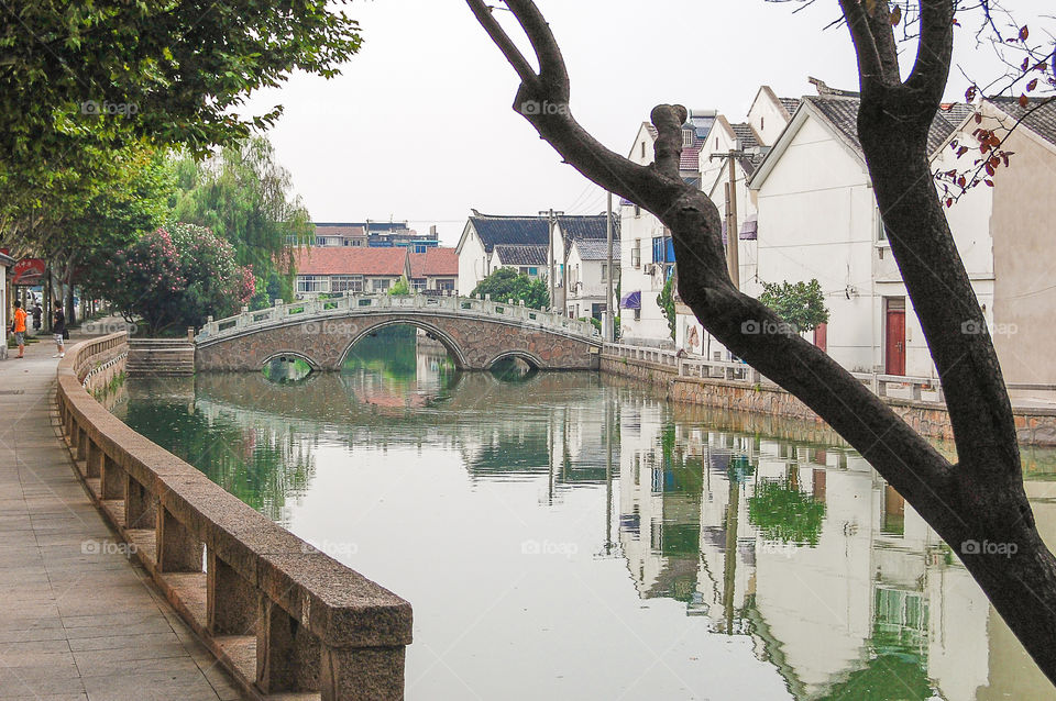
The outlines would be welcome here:
M 210 319 L 195 337 L 195 367 L 260 370 L 274 358 L 293 356 L 314 370 L 338 370 L 361 338 L 395 324 L 426 331 L 465 370 L 487 369 L 509 357 L 544 370 L 596 369 L 602 345 L 591 323 L 521 304 L 464 297 L 343 294 Z

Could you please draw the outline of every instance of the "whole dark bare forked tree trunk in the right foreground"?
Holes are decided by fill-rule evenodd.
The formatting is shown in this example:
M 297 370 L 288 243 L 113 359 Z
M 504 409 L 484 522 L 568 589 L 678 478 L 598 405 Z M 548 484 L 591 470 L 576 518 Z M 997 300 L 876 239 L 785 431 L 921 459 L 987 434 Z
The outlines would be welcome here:
M 679 177 L 685 108 L 660 104 L 652 110 L 654 159 L 635 164 L 603 146 L 573 118 L 564 59 L 535 2 L 505 4 L 527 35 L 538 70 L 484 0 L 466 1 L 520 78 L 514 110 L 585 177 L 652 212 L 671 230 L 679 292 L 704 327 L 802 400 L 869 460 L 960 554 L 1016 637 L 1056 681 L 1056 559 L 1038 535 L 1026 499 L 1001 368 L 928 162 L 928 129 L 953 56 L 954 0 L 914 3 L 919 14 L 911 38 L 917 51 L 905 78 L 894 30 L 903 13 L 900 5 L 886 0 L 839 0 L 838 5 L 857 55 L 859 140 L 891 251 L 942 378 L 957 463 L 730 281 L 722 218 L 700 189 Z M 989 10 L 986 0 L 974 7 Z M 963 333 L 966 323 L 983 333 Z M 758 327 L 780 331 L 744 331 Z M 998 547 L 979 546 L 985 543 Z

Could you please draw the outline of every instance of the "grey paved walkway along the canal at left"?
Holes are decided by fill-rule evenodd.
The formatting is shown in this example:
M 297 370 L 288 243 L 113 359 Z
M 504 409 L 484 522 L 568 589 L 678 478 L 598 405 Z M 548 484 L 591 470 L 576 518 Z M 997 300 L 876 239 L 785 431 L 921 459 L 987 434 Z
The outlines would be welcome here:
M 74 475 L 55 346 L 16 353 L 0 360 L 0 699 L 242 698 Z

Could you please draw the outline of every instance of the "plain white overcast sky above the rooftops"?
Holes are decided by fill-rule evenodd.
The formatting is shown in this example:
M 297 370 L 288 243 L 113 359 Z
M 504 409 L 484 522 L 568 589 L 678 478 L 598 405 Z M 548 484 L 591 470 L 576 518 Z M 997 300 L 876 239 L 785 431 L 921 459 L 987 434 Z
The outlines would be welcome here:
M 857 90 L 854 52 L 835 0 L 792 13 L 765 0 L 540 0 L 572 80 L 576 119 L 626 153 L 660 102 L 741 120 L 760 85 L 812 94 L 807 76 Z M 1050 0 L 1008 0 L 1034 20 Z M 464 0 L 353 0 L 363 49 L 331 80 L 295 75 L 245 112 L 280 103 L 271 130 L 279 162 L 317 222 L 409 220 L 454 245 L 470 208 L 597 213 L 604 193 L 562 165 L 510 109 L 517 80 Z M 506 13 L 508 25 L 508 13 Z M 1047 22 L 1054 25 L 1053 21 Z M 1033 36 L 1040 36 L 1041 27 Z M 992 75 L 990 51 L 959 30 L 955 62 Z M 989 73 L 988 73 L 989 71 Z M 964 94 L 955 68 L 948 97 Z

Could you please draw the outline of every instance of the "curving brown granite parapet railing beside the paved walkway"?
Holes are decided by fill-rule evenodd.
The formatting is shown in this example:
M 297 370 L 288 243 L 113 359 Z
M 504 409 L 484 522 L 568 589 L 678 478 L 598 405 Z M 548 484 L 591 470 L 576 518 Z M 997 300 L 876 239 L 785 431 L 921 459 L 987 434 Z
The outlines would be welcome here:
M 92 399 L 86 377 L 127 347 L 124 333 L 72 347 L 58 366 L 57 401 L 85 482 L 129 552 L 251 696 L 403 699 L 410 604 Z

